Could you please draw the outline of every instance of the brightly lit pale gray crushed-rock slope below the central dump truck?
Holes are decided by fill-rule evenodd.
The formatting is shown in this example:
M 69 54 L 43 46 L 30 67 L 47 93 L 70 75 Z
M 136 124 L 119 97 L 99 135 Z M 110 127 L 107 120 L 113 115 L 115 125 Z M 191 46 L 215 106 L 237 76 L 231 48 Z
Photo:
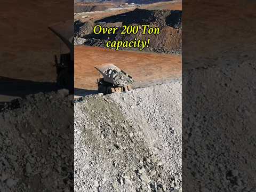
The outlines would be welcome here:
M 75 102 L 75 191 L 181 191 L 181 81 Z

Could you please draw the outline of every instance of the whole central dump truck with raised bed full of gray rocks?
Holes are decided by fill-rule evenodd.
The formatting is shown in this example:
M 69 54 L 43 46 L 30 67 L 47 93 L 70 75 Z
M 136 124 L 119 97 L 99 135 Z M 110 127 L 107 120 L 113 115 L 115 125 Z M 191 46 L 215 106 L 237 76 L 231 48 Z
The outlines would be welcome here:
M 132 90 L 133 79 L 113 64 L 95 66 L 103 78 L 97 79 L 98 91 L 103 94 L 128 92 Z

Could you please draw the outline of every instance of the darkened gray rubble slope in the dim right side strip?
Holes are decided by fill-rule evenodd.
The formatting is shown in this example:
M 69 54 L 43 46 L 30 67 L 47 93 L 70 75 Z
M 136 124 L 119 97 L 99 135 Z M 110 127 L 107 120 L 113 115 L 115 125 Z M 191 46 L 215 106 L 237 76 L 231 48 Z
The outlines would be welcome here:
M 251 50 L 228 50 L 182 67 L 188 101 L 182 105 L 182 160 L 188 172 L 183 179 L 190 181 L 183 183 L 184 191 L 256 191 L 256 58 Z

